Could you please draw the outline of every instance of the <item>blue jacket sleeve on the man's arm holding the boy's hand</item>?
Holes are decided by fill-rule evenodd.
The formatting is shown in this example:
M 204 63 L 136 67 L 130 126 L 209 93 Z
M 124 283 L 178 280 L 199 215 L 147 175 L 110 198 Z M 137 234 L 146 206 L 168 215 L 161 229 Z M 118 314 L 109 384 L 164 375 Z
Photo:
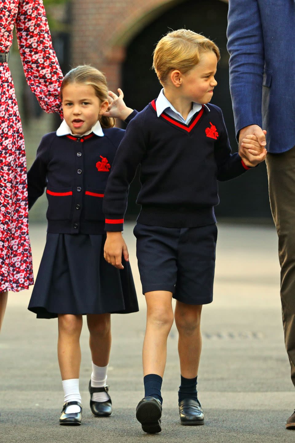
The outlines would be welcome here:
M 227 50 L 230 53 L 230 93 L 236 135 L 241 128 L 262 128 L 261 102 L 264 43 L 258 0 L 229 0 Z

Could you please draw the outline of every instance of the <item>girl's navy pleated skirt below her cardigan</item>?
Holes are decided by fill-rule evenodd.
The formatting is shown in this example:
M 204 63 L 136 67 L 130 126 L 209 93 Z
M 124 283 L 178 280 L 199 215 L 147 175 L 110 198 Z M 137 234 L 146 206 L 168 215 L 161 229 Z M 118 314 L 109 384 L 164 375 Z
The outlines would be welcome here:
M 58 314 L 138 311 L 129 262 L 119 270 L 103 258 L 105 235 L 47 233 L 28 309 L 37 318 Z

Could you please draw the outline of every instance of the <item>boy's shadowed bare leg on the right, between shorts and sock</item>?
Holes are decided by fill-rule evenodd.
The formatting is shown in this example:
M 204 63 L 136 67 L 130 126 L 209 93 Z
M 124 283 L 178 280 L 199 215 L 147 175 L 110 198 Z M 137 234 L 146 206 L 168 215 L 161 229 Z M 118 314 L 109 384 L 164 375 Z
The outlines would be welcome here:
M 180 373 L 185 378 L 198 375 L 202 350 L 201 312 L 202 305 L 188 305 L 176 301 L 174 316 L 179 333 Z

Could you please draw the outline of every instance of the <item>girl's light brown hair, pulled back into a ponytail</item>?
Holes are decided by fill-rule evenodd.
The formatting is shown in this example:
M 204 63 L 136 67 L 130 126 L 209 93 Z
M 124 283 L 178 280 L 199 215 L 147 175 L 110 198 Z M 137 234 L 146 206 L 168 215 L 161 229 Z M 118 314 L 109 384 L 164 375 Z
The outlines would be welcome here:
M 65 77 L 61 82 L 61 100 L 63 89 L 70 83 L 82 83 L 83 85 L 92 86 L 95 90 L 96 97 L 98 97 L 101 102 L 108 100 L 106 76 L 90 65 L 77 66 L 65 74 Z M 102 128 L 112 128 L 115 125 L 115 119 L 111 117 L 100 116 L 99 120 Z

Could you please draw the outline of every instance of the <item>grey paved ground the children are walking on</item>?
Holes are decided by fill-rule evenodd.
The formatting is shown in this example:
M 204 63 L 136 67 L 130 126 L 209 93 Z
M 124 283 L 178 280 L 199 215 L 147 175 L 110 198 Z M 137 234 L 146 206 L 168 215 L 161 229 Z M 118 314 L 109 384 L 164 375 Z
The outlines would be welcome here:
M 45 226 L 30 230 L 36 275 Z M 80 389 L 83 425 L 58 425 L 63 403 L 56 320 L 27 311 L 30 291 L 10 294 L 0 337 L 0 442 L 294 442 L 284 423 L 295 407 L 280 315 L 276 232 L 272 227 L 218 225 L 215 299 L 203 308 L 203 352 L 199 398 L 206 423 L 178 423 L 179 363 L 173 326 L 163 382 L 163 430 L 146 435 L 134 417 L 143 396 L 141 349 L 145 300 L 136 269 L 132 225 L 125 238 L 138 288 L 140 312 L 112 319 L 113 346 L 108 382 L 113 415 L 97 419 L 88 408 L 91 359 L 88 333 L 81 336 Z

